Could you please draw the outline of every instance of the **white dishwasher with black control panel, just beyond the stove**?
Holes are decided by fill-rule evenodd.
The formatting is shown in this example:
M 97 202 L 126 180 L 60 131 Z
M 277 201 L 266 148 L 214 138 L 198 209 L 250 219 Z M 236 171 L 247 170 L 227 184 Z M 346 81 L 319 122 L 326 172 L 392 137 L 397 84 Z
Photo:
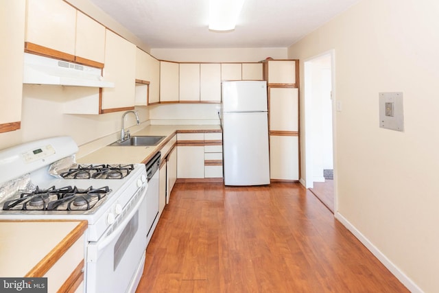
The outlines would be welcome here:
M 148 183 L 145 197 L 147 219 L 146 245 L 150 243 L 158 222 L 158 189 L 160 184 L 160 172 L 158 172 L 158 169 L 160 167 L 160 161 L 161 152 L 158 152 L 145 165 Z

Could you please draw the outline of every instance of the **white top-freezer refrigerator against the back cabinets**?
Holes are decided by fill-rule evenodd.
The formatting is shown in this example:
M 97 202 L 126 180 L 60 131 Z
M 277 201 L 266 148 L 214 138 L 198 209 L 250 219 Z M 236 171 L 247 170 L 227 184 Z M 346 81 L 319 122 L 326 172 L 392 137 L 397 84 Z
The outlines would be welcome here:
M 270 184 L 267 83 L 222 82 L 224 185 Z

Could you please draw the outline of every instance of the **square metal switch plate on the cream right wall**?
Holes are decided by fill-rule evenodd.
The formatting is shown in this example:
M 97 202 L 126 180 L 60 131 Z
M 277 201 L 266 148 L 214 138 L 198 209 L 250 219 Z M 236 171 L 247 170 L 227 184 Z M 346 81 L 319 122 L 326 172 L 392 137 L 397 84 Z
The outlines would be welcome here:
M 404 131 L 403 93 L 379 93 L 379 127 Z

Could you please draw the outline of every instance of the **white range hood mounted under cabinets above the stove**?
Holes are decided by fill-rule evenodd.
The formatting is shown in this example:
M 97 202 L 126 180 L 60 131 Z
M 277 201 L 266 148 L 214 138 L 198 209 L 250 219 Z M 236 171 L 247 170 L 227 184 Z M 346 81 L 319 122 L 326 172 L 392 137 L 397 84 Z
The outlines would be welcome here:
M 115 87 L 102 78 L 101 69 L 25 53 L 23 84 Z

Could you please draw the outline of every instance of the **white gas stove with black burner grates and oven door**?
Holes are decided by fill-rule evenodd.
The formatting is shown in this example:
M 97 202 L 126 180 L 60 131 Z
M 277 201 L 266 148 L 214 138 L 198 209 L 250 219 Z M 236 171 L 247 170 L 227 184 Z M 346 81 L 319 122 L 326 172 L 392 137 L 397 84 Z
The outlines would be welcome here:
M 149 228 L 145 165 L 78 165 L 77 151 L 71 137 L 0 150 L 0 219 L 87 220 L 86 292 L 134 292 Z

